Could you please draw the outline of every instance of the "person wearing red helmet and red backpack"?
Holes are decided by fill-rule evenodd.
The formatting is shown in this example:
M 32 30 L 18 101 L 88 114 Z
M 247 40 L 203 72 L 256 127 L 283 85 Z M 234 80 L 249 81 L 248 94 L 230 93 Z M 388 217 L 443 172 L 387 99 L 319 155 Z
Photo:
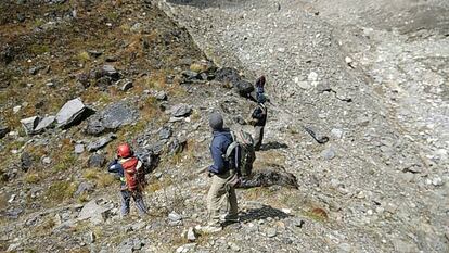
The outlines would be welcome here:
M 147 214 L 142 195 L 145 181 L 143 163 L 133 155 L 129 144 L 124 143 L 118 146 L 117 156 L 110 164 L 107 170 L 110 173 L 118 174 L 120 178 L 121 216 L 127 216 L 129 214 L 129 202 L 131 197 L 136 202 L 139 214 L 141 216 Z

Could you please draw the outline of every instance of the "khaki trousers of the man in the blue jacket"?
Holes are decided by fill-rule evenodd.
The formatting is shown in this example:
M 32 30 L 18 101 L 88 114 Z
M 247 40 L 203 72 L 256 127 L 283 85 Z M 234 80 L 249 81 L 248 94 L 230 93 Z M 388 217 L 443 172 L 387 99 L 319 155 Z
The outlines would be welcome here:
M 238 216 L 238 201 L 235 189 L 229 186 L 229 181 L 236 177 L 233 170 L 222 175 L 214 175 L 211 177 L 211 185 L 207 193 L 207 210 L 209 212 L 209 225 L 220 224 L 220 208 L 224 199 L 229 205 L 228 216 Z

